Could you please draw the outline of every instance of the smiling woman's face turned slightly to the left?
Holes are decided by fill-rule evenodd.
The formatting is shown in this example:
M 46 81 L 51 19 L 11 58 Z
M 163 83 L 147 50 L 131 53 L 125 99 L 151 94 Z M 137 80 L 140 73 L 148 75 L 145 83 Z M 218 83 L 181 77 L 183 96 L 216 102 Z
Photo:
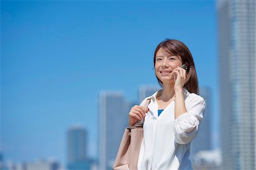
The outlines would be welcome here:
M 163 83 L 174 82 L 174 73 L 172 70 L 181 65 L 182 61 L 179 56 L 170 56 L 168 53 L 163 53 L 162 48 L 156 53 L 155 74 Z

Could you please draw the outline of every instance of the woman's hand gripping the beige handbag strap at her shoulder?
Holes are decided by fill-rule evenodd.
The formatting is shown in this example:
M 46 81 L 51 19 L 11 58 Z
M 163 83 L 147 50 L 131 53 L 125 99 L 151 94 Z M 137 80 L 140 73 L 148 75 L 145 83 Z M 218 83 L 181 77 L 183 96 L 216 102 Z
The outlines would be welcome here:
M 145 111 L 145 109 L 141 105 L 134 105 L 129 113 L 129 126 L 133 126 L 138 120 L 142 120 L 142 118 L 146 116 L 146 112 L 148 111 L 148 108 L 147 111 Z

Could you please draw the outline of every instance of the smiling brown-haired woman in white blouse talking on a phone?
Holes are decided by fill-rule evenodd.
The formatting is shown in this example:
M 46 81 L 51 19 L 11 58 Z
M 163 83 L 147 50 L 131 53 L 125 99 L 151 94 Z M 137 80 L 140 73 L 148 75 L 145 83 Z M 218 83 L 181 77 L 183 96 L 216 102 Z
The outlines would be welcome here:
M 180 66 L 185 64 L 187 70 Z M 203 120 L 205 100 L 199 95 L 195 64 L 183 42 L 166 39 L 154 54 L 155 75 L 162 90 L 134 105 L 129 125 L 143 121 L 138 169 L 192 169 L 192 139 Z M 142 107 L 147 99 L 150 104 Z

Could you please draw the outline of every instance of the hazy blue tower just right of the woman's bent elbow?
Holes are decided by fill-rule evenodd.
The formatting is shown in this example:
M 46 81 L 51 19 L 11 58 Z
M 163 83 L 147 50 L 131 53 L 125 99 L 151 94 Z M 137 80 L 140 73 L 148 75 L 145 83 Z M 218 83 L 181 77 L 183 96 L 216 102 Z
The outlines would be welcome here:
M 201 87 L 199 89 L 200 96 L 202 96 L 207 104 L 204 112 L 203 121 L 201 121 L 199 131 L 191 142 L 191 157 L 193 158 L 197 152 L 199 151 L 209 151 L 212 150 L 211 145 L 211 129 L 210 126 L 212 124 L 212 118 L 210 113 L 210 88 L 209 87 Z

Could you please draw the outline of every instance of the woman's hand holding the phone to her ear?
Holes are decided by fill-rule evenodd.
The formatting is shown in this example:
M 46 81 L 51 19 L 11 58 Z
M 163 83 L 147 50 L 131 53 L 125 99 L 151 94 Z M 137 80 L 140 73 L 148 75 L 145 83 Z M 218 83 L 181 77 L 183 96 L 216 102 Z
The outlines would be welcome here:
M 174 84 L 174 91 L 182 90 L 185 80 L 187 78 L 187 71 L 180 66 L 177 66 L 176 69 L 174 69 L 174 76 L 175 76 L 175 84 Z

